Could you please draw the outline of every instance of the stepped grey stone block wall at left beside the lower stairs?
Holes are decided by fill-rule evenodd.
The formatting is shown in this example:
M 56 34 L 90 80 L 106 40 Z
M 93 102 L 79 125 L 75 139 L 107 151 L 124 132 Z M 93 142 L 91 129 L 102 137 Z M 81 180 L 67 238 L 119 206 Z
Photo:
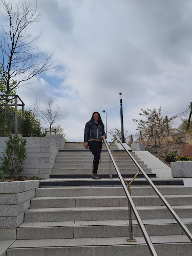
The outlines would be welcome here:
M 0 240 L 15 240 L 16 228 L 35 197 L 38 180 L 0 182 Z

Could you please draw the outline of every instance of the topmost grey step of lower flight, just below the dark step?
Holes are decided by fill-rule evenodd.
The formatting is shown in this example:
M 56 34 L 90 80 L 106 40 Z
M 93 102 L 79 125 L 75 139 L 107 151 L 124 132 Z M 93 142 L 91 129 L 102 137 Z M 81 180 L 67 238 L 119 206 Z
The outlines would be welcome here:
M 192 187 L 157 186 L 162 195 L 192 195 Z M 131 186 L 132 196 L 156 196 L 151 186 Z M 36 197 L 74 197 L 74 196 L 124 196 L 122 186 L 103 187 L 41 187 L 35 192 Z M 192 196 L 191 196 L 192 197 Z

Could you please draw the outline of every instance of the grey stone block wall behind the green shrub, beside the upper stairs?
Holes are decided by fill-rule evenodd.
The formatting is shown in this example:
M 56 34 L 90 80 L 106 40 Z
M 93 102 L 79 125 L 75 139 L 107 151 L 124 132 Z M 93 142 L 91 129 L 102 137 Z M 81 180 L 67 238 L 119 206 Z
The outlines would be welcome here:
M 27 140 L 27 159 L 24 171 L 19 176 L 38 176 L 48 179 L 58 153 L 58 147 L 51 137 L 23 137 Z M 6 148 L 8 137 L 0 137 L 0 156 Z M 2 164 L 2 160 L 0 160 Z

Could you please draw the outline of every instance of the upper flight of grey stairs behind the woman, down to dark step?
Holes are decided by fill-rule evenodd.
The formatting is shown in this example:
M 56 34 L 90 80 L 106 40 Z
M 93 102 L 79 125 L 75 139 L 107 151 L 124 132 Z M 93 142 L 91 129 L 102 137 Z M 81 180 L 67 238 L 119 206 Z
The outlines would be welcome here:
M 116 161 L 116 164 L 123 176 L 123 178 L 129 179 L 133 178 L 138 172 L 138 168 L 133 163 L 132 159 L 127 155 L 127 153 L 120 149 L 114 144 L 112 146 L 112 155 Z M 67 149 L 68 148 L 68 149 Z M 173 179 L 161 180 L 157 179 L 155 174 L 152 174 L 152 170 L 144 164 L 140 158 L 137 157 L 133 152 L 132 156 L 137 160 L 140 166 L 143 168 L 144 172 L 152 178 L 156 185 L 182 185 L 183 180 L 178 179 L 173 181 Z M 92 161 L 93 155 L 89 150 L 84 150 L 83 143 L 65 143 L 63 150 L 59 150 L 57 158 L 53 165 L 49 181 L 41 181 L 41 186 L 82 186 L 82 185 L 95 185 L 95 180 L 91 180 L 92 173 Z M 98 175 L 102 180 L 97 181 L 97 185 L 121 185 L 115 168 L 112 164 L 112 175 L 113 180 L 109 180 L 109 153 L 106 151 L 106 147 L 103 143 L 101 151 L 101 161 L 98 168 Z M 134 181 L 134 185 L 148 185 L 148 182 L 142 178 L 142 174 L 139 174 L 138 179 Z M 59 179 L 59 180 L 58 180 Z

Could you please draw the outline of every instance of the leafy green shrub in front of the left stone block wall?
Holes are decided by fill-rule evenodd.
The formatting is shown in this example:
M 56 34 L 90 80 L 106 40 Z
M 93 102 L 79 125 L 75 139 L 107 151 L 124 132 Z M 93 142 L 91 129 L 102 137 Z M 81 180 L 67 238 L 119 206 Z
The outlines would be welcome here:
M 23 171 L 23 164 L 27 158 L 25 145 L 27 140 L 19 138 L 17 134 L 9 137 L 6 141 L 4 157 L 1 157 L 3 164 L 0 167 L 1 172 L 8 175 L 10 178 L 16 177 L 17 173 Z

